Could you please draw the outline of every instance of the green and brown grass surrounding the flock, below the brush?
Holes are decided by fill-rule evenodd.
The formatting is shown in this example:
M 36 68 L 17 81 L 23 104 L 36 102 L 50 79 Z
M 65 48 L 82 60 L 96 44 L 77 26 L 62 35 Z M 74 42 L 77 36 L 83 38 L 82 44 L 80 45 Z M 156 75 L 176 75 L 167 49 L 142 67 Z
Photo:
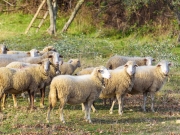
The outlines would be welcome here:
M 161 59 L 166 59 L 173 63 L 169 75 L 170 80 L 156 95 L 156 113 L 150 111 L 150 100 L 147 101 L 148 111 L 142 112 L 140 108 L 141 95 L 126 97 L 123 116 L 118 115 L 117 105 L 114 108 L 114 114 L 110 115 L 108 111 L 110 106 L 103 106 L 102 102 L 98 100 L 96 103 L 98 112 L 91 113 L 92 124 L 83 120 L 84 114 L 80 105 L 66 105 L 64 110 L 66 124 L 62 124 L 59 121 L 57 104 L 51 113 L 50 123 L 47 124 L 45 121 L 48 107 L 47 95 L 46 107 L 43 109 L 39 108 L 40 98 L 37 96 L 37 109 L 33 112 L 27 109 L 27 99 L 19 97 L 19 108 L 14 109 L 12 99 L 9 97 L 6 109 L 3 111 L 3 121 L 0 122 L 0 134 L 170 135 L 180 133 L 177 121 L 180 120 L 180 45 L 176 43 L 175 37 L 168 34 L 161 36 L 131 34 L 123 38 L 119 38 L 121 35 L 117 35 L 118 38 L 114 38 L 116 36 L 107 38 L 107 33 L 103 36 L 99 30 L 89 36 L 86 35 L 86 32 L 92 31 L 93 27 L 82 34 L 79 31 L 83 27 L 77 20 L 71 26 L 72 30 L 69 31 L 71 34 L 61 34 L 59 30 L 56 37 L 49 36 L 45 32 L 49 23 L 47 21 L 38 33 L 32 30 L 24 35 L 31 18 L 31 15 L 0 14 L 0 43 L 8 45 L 12 50 L 42 49 L 44 46 L 53 45 L 64 56 L 65 61 L 78 57 L 82 63 L 81 68 L 105 65 L 107 59 L 114 54 L 152 56 L 156 58 L 156 63 Z M 62 22 L 65 22 L 65 19 Z M 63 26 L 62 22 L 59 21 L 58 26 Z M 83 26 L 86 23 L 84 21 Z M 76 25 L 79 26 L 75 28 Z M 76 31 L 78 32 L 76 33 Z M 46 93 L 48 94 L 48 92 Z

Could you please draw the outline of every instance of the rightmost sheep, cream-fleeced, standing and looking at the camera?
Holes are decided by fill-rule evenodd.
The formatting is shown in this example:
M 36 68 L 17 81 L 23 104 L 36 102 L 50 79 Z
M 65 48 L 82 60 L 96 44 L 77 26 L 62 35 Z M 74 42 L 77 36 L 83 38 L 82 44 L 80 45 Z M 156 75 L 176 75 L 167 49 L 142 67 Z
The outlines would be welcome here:
M 151 96 L 151 111 L 154 112 L 154 95 L 165 84 L 169 74 L 168 61 L 161 61 L 156 66 L 140 66 L 136 68 L 134 86 L 129 94 L 143 94 L 143 111 L 146 111 L 147 94 Z M 114 104 L 112 104 L 113 108 Z

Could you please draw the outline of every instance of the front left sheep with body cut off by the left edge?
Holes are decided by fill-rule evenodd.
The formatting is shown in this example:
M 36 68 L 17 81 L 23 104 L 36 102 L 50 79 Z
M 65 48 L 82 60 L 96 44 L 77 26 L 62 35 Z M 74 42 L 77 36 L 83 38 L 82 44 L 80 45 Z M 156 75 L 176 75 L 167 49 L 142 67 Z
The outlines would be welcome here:
M 28 91 L 30 108 L 34 109 L 34 92 L 41 87 L 43 81 L 49 78 L 50 61 L 44 59 L 39 66 L 22 69 L 0 68 L 0 102 L 4 93 L 19 94 Z M 0 106 L 0 112 L 2 108 Z

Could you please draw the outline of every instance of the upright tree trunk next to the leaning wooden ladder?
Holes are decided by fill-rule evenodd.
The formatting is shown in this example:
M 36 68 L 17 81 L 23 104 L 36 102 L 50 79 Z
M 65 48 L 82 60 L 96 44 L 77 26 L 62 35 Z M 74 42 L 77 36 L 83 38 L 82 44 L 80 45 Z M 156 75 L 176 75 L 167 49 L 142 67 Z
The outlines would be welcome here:
M 50 35 L 56 35 L 57 0 L 47 0 L 47 5 L 50 16 L 50 26 L 47 31 Z

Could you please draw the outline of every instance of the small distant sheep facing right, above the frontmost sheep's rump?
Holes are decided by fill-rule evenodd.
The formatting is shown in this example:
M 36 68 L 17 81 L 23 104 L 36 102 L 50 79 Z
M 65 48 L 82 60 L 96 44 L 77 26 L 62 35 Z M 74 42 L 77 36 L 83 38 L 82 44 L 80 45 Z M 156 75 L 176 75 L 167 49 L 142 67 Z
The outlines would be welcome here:
M 62 75 L 72 75 L 78 67 L 81 67 L 79 59 L 70 59 L 68 62 L 63 62 L 62 65 L 59 64 Z

